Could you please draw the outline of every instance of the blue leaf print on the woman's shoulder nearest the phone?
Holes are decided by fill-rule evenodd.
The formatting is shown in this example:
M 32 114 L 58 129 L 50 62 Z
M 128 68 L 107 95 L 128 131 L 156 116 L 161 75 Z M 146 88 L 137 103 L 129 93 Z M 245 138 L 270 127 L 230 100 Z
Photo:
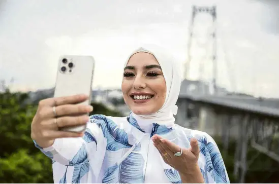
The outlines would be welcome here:
M 132 145 L 128 142 L 127 133 L 117 127 L 112 120 L 102 115 L 93 115 L 91 117 L 95 118 L 96 121 L 94 123 L 102 129 L 104 137 L 107 138 L 107 150 L 117 151 L 123 148 L 132 148 Z

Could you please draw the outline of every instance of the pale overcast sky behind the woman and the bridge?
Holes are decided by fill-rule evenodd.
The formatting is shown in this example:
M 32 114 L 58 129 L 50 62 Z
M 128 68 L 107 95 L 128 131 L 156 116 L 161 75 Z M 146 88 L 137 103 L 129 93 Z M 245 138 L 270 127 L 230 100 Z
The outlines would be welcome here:
M 91 55 L 96 60 L 93 87 L 119 89 L 123 64 L 145 43 L 167 48 L 183 71 L 192 5 L 217 7 L 218 85 L 279 97 L 275 0 L 0 0 L 0 80 L 13 78 L 14 91 L 51 88 L 60 55 Z M 207 32 L 211 23 L 210 16 L 197 17 L 195 33 Z M 199 45 L 193 48 L 195 56 L 204 53 Z M 189 79 L 199 79 L 199 62 L 192 62 Z M 210 60 L 203 62 L 202 78 L 210 81 Z

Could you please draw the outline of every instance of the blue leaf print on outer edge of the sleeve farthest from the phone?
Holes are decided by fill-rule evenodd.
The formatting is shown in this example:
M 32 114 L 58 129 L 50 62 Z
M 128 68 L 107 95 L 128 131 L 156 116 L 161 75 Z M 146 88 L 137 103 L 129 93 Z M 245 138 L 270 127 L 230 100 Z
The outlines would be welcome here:
M 224 162 L 216 146 L 211 142 L 207 143 L 205 136 L 198 137 L 197 140 L 200 152 L 205 156 L 207 172 L 211 173 L 212 178 L 217 183 L 227 183 Z

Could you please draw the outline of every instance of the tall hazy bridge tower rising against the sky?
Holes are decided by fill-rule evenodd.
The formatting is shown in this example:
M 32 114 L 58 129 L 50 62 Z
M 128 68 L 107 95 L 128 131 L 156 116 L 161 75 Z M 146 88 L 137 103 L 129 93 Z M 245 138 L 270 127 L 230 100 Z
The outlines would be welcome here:
M 211 16 L 209 26 L 203 26 L 197 20 L 198 15 L 206 14 Z M 208 21 L 207 21 L 208 23 Z M 200 32 L 200 30 L 206 30 Z M 202 52 L 197 52 L 197 49 Z M 206 69 L 210 68 L 209 72 Z M 195 67 L 195 68 L 194 68 Z M 189 27 L 188 58 L 184 66 L 184 79 L 189 79 L 190 69 L 196 69 L 198 74 L 198 91 L 205 94 L 205 86 L 208 85 L 211 94 L 217 92 L 216 77 L 216 6 L 193 6 L 192 19 Z M 206 75 L 207 74 L 207 75 Z M 208 79 L 209 78 L 209 79 Z M 205 83 L 205 81 L 210 80 Z

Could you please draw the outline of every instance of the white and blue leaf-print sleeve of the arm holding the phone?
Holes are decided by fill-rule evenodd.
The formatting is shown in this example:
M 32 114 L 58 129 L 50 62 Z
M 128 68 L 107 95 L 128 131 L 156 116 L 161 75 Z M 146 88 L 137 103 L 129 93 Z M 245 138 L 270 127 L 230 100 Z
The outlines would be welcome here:
M 54 183 L 97 182 L 107 139 L 94 119 L 90 118 L 83 137 L 57 138 L 53 145 L 44 149 L 36 141 L 34 143 L 52 160 Z

